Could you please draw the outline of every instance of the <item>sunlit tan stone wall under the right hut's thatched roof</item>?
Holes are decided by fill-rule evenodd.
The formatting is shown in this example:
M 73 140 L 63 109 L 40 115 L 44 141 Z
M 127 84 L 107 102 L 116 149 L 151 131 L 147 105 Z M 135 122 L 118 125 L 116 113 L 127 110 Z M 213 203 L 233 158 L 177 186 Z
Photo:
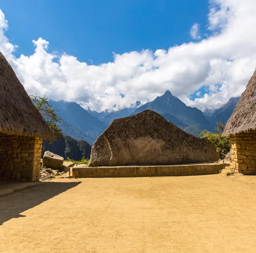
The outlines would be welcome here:
M 256 174 L 256 131 L 232 135 L 230 144 L 232 171 Z

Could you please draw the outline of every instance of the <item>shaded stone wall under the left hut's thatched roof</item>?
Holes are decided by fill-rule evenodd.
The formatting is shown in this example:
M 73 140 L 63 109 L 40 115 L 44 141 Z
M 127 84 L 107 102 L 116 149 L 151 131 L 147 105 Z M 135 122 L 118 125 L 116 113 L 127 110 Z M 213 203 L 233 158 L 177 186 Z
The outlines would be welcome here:
M 38 181 L 42 138 L 0 134 L 0 180 Z

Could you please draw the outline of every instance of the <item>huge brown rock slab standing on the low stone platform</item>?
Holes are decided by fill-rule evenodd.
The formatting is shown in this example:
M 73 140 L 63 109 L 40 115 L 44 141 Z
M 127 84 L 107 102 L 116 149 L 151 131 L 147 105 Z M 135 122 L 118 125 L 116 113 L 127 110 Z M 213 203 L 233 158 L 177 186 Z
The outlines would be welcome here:
M 219 158 L 207 138 L 190 135 L 145 110 L 114 120 L 94 142 L 89 166 L 190 164 Z

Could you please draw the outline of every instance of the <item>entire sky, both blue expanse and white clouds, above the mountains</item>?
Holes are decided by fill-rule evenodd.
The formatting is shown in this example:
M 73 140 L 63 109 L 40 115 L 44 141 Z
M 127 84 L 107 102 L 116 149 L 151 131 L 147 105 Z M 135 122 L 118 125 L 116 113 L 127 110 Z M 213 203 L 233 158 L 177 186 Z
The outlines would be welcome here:
M 0 0 L 0 51 L 29 94 L 102 111 L 169 89 L 215 109 L 253 75 L 255 13 L 255 0 Z

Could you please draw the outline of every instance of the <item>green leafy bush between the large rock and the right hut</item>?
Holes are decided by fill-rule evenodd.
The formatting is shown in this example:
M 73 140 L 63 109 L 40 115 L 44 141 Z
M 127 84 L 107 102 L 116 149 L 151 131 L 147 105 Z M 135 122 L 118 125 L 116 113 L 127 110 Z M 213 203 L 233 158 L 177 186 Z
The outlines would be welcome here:
M 217 150 L 221 159 L 225 158 L 225 155 L 230 151 L 230 138 L 229 136 L 222 137 L 222 132 L 224 131 L 225 125 L 221 122 L 215 123 L 215 131 L 217 133 L 209 132 L 204 130 L 201 132 L 201 138 L 207 137 L 208 140 L 212 143 L 212 145 Z

